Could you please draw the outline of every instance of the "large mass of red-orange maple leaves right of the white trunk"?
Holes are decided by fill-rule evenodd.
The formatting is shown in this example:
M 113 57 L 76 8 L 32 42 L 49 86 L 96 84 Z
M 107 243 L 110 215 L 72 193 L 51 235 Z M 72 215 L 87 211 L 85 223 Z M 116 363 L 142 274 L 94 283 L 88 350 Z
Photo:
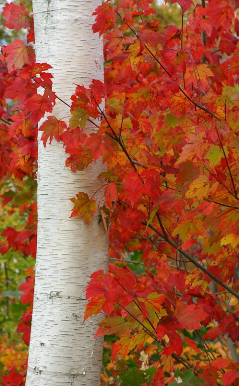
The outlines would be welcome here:
M 163 27 L 148 1 L 106 1 L 94 12 L 93 31 L 105 41 L 105 109 L 91 87 L 81 98 L 88 96 L 85 111 L 97 103 L 103 117 L 97 143 L 111 141 L 100 153 L 111 257 L 140 251 L 147 269 L 93 274 L 85 317 L 106 313 L 96 336 L 119 336 L 113 361 L 142 349 L 150 355 L 158 342 L 155 385 L 177 363 L 192 366 L 205 385 L 238 385 L 238 364 L 210 350 L 205 364 L 195 334 L 204 347 L 239 339 L 239 4 L 173 2 L 182 8 L 180 27 Z M 198 362 L 185 358 L 184 345 Z

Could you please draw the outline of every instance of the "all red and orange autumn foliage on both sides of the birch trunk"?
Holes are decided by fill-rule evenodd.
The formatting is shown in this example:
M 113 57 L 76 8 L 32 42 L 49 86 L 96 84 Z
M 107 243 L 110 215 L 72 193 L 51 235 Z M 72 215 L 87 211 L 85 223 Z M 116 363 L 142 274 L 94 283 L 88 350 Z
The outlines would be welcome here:
M 34 61 L 32 16 L 22 4 L 3 8 L 6 27 L 29 32 L 28 45 L 1 51 L 2 205 L 14 210 L 18 189 L 9 194 L 4 182 L 34 179 L 43 117 L 44 145 L 62 141 L 72 172 L 99 158 L 108 165 L 99 207 L 112 259 L 92 274 L 85 311 L 103 310 L 96 336 L 114 337 L 103 385 L 239 385 L 239 0 L 174 3 L 181 25 L 153 0 L 96 9 L 105 83 L 77 85 L 69 122 L 51 115 L 58 96 L 50 66 Z M 69 216 L 90 222 L 94 196 L 69 199 Z M 26 198 L 18 207 L 28 221 L 3 231 L 2 256 L 35 254 L 36 206 Z M 17 329 L 26 344 L 32 283 L 29 270 Z M 13 366 L 3 385 L 24 377 L 25 363 Z

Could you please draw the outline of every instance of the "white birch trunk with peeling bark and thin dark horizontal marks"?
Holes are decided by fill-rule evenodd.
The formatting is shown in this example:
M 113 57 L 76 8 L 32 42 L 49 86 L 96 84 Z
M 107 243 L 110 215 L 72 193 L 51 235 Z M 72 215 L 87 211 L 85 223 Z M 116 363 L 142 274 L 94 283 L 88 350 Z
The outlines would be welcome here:
M 53 89 L 68 104 L 73 83 L 103 80 L 102 43 L 91 30 L 100 3 L 33 0 L 37 62 L 53 66 Z M 69 108 L 57 102 L 53 114 L 69 117 Z M 62 143 L 44 148 L 38 142 L 36 284 L 26 386 L 97 386 L 103 342 L 94 335 L 100 318 L 83 324 L 84 288 L 93 271 L 107 268 L 108 235 L 97 216 L 88 225 L 70 219 L 69 198 L 79 191 L 92 196 L 103 185 L 97 177 L 103 169 L 97 163 L 74 174 L 65 166 Z

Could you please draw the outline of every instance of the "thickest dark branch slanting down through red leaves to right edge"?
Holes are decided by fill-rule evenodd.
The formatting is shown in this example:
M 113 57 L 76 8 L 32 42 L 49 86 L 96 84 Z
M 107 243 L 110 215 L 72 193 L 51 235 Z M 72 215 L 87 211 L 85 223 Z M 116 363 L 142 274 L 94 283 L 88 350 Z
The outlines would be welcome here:
M 146 221 L 142 221 L 142 224 L 147 226 Z M 226 289 L 228 292 L 230 292 L 233 296 L 235 296 L 237 299 L 239 299 L 239 294 L 235 292 L 232 288 L 230 288 L 227 284 L 225 284 L 222 280 L 220 280 L 217 276 L 215 276 L 213 273 L 211 273 L 207 268 L 205 268 L 200 262 L 195 260 L 194 257 L 190 256 L 187 252 L 183 251 L 182 248 L 174 243 L 174 241 L 170 240 L 168 237 L 165 238 L 165 236 L 159 232 L 155 227 L 153 227 L 151 224 L 148 224 L 148 228 L 152 229 L 157 235 L 162 237 L 163 240 L 165 240 L 168 244 L 170 244 L 175 250 L 180 252 L 184 257 L 186 257 L 189 261 L 191 261 L 194 265 L 196 265 L 199 269 L 201 269 L 204 273 L 206 273 L 209 277 L 211 277 L 212 280 L 216 281 L 218 284 L 220 284 L 224 289 Z

